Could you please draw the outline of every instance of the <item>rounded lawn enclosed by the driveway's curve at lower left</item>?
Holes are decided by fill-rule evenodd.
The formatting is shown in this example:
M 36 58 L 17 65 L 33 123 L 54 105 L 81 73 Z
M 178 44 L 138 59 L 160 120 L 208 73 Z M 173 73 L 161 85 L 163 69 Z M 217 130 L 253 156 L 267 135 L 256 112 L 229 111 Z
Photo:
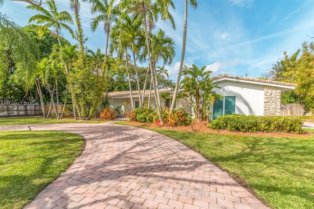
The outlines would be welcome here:
M 61 131 L 0 131 L 0 208 L 20 209 L 58 177 L 84 148 Z

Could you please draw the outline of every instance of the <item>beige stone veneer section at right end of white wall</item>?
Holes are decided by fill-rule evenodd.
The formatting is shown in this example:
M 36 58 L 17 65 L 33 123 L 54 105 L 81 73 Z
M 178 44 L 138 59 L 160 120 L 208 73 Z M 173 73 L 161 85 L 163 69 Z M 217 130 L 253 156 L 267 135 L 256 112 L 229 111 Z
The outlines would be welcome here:
M 281 89 L 274 86 L 264 86 L 264 111 L 263 115 L 280 116 Z

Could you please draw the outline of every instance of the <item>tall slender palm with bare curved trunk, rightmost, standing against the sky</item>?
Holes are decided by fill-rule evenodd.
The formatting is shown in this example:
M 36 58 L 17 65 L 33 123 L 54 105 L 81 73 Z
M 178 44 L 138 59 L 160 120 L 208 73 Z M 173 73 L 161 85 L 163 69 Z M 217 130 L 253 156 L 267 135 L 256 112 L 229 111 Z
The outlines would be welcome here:
M 189 0 L 189 1 L 190 1 L 190 5 L 194 9 L 196 9 L 197 8 L 197 0 Z M 180 79 L 181 79 L 183 62 L 184 62 L 184 54 L 185 54 L 186 27 L 187 27 L 187 0 L 184 0 L 184 26 L 183 26 L 183 43 L 182 43 L 181 62 L 180 62 L 180 68 L 179 68 L 179 72 L 178 72 L 177 83 L 176 83 L 175 90 L 173 92 L 173 97 L 172 97 L 172 102 L 171 102 L 171 107 L 169 109 L 169 112 L 173 111 L 173 108 L 175 107 L 175 101 L 176 101 L 177 95 L 178 95 L 179 83 L 180 83 Z

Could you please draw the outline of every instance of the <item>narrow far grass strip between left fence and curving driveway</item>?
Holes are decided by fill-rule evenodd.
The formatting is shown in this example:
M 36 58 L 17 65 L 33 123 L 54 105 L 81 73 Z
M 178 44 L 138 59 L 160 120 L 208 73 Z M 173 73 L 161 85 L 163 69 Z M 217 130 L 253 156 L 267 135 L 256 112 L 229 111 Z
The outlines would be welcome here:
M 105 121 L 89 120 L 89 121 L 80 121 L 74 120 L 73 118 L 62 118 L 56 119 L 53 117 L 45 118 L 43 117 L 9 117 L 9 118 L 0 118 L 0 126 L 7 125 L 29 125 L 29 124 L 51 124 L 51 123 L 103 123 Z

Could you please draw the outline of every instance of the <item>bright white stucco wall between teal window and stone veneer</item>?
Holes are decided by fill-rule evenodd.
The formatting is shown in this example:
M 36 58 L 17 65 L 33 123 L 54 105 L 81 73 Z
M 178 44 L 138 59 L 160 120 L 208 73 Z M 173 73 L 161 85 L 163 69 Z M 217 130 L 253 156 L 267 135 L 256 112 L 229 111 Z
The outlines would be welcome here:
M 235 96 L 235 113 L 240 115 L 263 115 L 264 91 L 263 85 L 234 82 L 230 80 L 217 81 L 221 89 L 213 90 L 223 96 Z M 210 107 L 212 112 L 212 105 Z

